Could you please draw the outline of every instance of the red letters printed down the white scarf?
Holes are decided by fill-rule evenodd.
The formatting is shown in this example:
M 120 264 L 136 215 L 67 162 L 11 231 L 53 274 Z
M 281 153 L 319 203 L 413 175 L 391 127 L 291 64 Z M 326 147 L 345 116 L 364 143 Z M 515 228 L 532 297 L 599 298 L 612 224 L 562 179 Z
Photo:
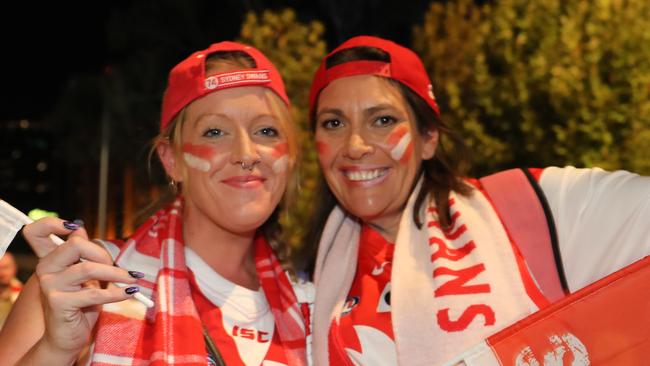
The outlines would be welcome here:
M 450 199 L 449 206 L 454 205 L 454 200 Z M 429 207 L 429 214 L 433 217 L 427 222 L 429 228 L 436 227 L 440 229 L 440 223 L 436 219 L 435 207 Z M 458 263 L 461 259 L 465 258 L 474 249 L 476 243 L 474 240 L 464 242 L 460 237 L 467 231 L 465 223 L 458 224 L 458 219 L 461 213 L 456 211 L 451 217 L 451 229 L 442 231 L 444 238 L 438 236 L 429 237 L 429 246 L 433 253 L 431 254 L 431 263 L 434 265 L 433 277 L 438 279 L 441 276 L 450 277 L 449 280 L 439 285 L 433 293 L 436 298 L 444 296 L 456 295 L 474 295 L 482 293 L 490 293 L 491 288 L 488 283 L 481 283 L 481 274 L 485 271 L 484 263 L 472 263 L 466 266 L 457 266 L 449 268 L 445 264 L 440 263 L 440 259 L 444 258 L 448 261 Z M 437 262 L 437 263 L 436 263 Z M 475 280 L 476 279 L 476 280 Z M 438 279 L 439 281 L 439 279 Z M 473 284 L 469 284 L 472 281 Z M 456 304 L 460 304 L 457 302 Z M 485 303 L 472 303 L 471 297 L 462 304 L 466 306 L 464 309 L 451 309 L 449 307 L 437 310 L 436 317 L 438 326 L 447 332 L 459 332 L 467 329 L 469 324 L 477 317 L 483 318 L 484 326 L 491 326 L 495 324 L 495 313 L 489 304 Z M 451 314 L 458 314 L 460 316 L 452 318 Z

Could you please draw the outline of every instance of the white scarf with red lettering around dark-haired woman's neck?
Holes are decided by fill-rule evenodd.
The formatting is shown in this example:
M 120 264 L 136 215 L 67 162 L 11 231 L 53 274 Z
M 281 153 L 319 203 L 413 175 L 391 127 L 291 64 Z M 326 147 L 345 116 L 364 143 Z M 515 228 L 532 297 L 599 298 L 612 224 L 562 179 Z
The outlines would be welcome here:
M 400 221 L 391 274 L 396 354 L 409 366 L 441 364 L 546 304 L 478 189 L 469 197 L 452 192 L 452 228 L 443 231 L 432 206 L 421 213 L 422 229 L 413 221 L 419 187 Z M 316 365 L 329 361 L 330 324 L 354 278 L 359 233 L 358 221 L 339 207 L 323 231 L 314 276 Z

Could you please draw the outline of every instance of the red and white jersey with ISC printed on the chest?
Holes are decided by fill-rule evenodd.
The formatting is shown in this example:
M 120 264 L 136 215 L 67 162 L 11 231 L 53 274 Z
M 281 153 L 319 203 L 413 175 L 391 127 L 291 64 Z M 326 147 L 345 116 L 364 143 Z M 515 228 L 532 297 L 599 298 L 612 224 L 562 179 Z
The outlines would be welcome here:
M 284 366 L 287 360 L 262 290 L 238 286 L 185 247 L 192 300 L 227 365 Z

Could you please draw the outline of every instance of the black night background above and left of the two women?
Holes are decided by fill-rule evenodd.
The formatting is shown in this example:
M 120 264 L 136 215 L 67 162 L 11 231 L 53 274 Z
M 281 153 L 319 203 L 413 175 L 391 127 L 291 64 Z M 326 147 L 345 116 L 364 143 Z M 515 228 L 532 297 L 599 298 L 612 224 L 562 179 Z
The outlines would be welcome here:
M 303 23 L 323 23 L 328 49 L 359 34 L 408 45 L 413 25 L 422 21 L 429 4 L 429 0 L 113 0 L 16 2 L 11 8 L 5 4 L 0 12 L 0 199 L 23 212 L 41 208 L 66 219 L 95 218 L 102 105 L 96 104 L 101 91 L 93 86 L 114 67 L 151 64 L 159 84 L 150 90 L 162 90 L 166 72 L 191 52 L 236 38 L 247 12 L 287 7 Z M 124 90 L 142 87 L 138 75 L 129 77 L 124 78 Z M 67 104 L 62 107 L 63 103 Z M 151 112 L 142 114 L 155 114 Z M 67 123 L 66 116 L 77 113 L 93 117 L 81 126 Z M 146 146 L 142 136 L 153 137 L 155 124 L 125 126 L 132 131 L 121 138 Z M 120 150 L 111 150 L 111 164 L 134 154 Z M 136 155 L 146 159 L 146 152 Z M 115 180 L 121 172 L 109 174 Z M 109 186 L 109 200 L 121 200 L 110 196 L 113 191 L 118 189 Z M 89 224 L 92 227 L 92 221 Z M 11 251 L 25 268 L 24 278 L 35 258 L 20 234 Z

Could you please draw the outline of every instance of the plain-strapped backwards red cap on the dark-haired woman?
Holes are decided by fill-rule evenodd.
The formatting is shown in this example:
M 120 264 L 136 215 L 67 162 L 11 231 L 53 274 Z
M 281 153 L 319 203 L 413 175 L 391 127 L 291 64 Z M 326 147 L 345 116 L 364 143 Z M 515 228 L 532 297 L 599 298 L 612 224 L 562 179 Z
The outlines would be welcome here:
M 326 60 L 333 54 L 354 47 L 374 47 L 388 54 L 390 61 L 348 61 L 342 64 L 326 68 Z M 422 61 L 410 49 L 400 46 L 397 43 L 372 36 L 358 36 L 348 39 L 340 46 L 330 52 L 323 59 L 320 67 L 314 75 L 309 92 L 309 115 L 314 112 L 314 106 L 320 92 L 332 81 L 353 75 L 377 75 L 399 81 L 413 90 L 424 99 L 433 111 L 440 115 L 436 97 L 433 94 L 433 86 Z

